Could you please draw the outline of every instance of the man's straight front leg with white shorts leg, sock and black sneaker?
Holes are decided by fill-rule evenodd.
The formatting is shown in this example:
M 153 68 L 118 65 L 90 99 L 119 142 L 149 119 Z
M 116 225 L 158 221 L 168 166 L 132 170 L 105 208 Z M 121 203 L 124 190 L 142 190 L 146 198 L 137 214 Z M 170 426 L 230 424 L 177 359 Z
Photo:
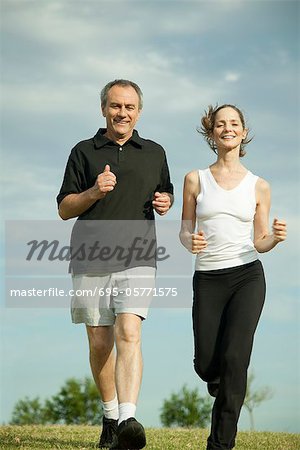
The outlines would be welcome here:
M 119 426 L 111 449 L 137 450 L 146 445 L 145 430 L 136 421 L 135 412 L 143 372 L 141 324 L 151 302 L 149 293 L 155 286 L 155 268 L 134 267 L 115 274 L 113 282 L 120 292 L 114 297 Z M 145 290 L 148 294 L 138 298 L 133 294 Z

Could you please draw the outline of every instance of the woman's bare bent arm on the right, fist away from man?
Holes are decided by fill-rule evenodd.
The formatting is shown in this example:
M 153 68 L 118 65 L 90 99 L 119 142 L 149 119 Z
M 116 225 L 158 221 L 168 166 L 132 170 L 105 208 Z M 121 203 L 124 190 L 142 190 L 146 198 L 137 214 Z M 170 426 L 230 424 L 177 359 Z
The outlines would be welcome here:
M 271 190 L 262 178 L 256 183 L 256 202 L 254 246 L 259 253 L 265 253 L 286 239 L 286 223 L 284 220 L 274 219 L 272 234 L 269 233 Z

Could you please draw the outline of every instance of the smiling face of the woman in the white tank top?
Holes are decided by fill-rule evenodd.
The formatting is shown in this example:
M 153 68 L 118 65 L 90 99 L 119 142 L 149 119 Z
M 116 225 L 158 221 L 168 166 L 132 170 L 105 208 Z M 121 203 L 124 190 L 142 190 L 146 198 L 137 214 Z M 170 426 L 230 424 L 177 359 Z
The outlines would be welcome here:
M 212 137 L 218 150 L 239 148 L 246 136 L 247 130 L 235 109 L 227 107 L 217 112 Z

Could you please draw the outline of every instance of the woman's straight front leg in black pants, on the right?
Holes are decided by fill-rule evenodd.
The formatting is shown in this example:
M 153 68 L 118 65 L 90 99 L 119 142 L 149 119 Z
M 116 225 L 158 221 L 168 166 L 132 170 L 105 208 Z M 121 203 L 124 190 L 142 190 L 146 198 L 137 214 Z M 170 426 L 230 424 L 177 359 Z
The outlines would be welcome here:
M 234 447 L 254 333 L 265 299 L 265 279 L 259 261 L 238 269 L 230 279 L 233 294 L 224 313 L 220 386 L 213 407 L 208 450 Z

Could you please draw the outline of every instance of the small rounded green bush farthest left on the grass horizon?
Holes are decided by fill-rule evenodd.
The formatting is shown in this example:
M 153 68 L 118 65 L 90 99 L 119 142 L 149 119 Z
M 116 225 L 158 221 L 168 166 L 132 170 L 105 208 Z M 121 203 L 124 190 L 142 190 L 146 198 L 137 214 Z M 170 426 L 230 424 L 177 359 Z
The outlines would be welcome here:
M 25 397 L 14 407 L 11 423 L 13 425 L 43 424 L 45 423 L 43 407 L 38 397 L 30 400 Z

